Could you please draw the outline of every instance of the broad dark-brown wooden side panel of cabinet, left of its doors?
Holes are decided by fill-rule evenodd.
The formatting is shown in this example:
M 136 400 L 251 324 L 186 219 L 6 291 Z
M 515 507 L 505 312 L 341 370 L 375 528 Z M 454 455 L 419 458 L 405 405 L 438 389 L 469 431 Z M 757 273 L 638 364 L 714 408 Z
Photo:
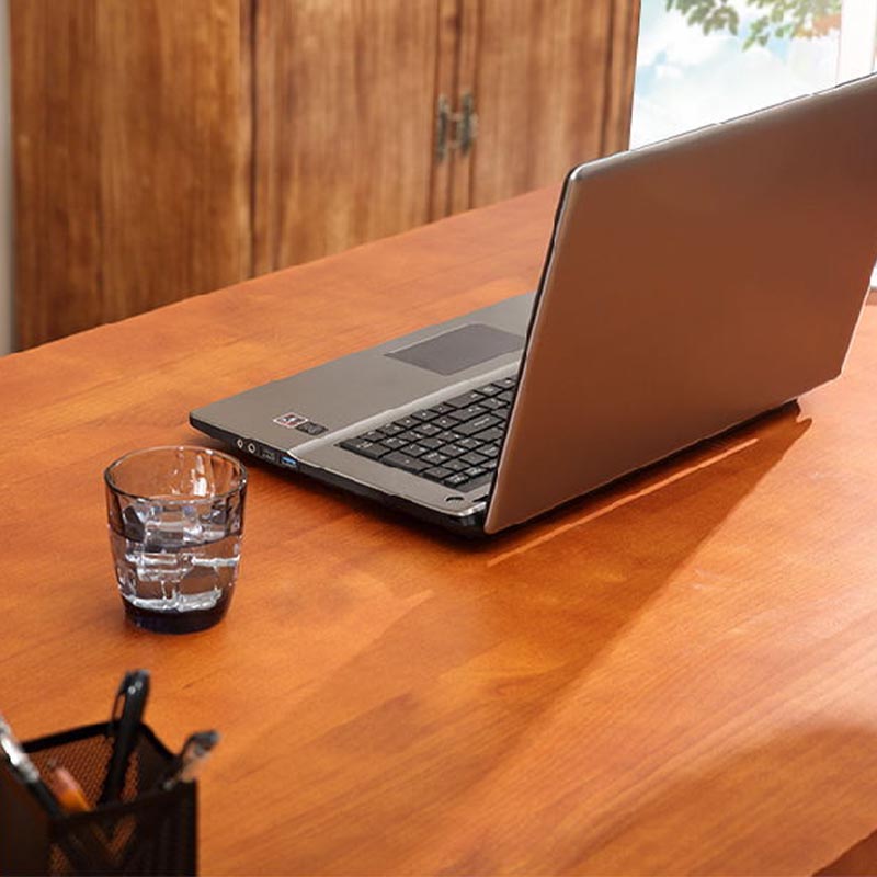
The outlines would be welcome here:
M 239 0 L 12 0 L 18 343 L 249 273 Z

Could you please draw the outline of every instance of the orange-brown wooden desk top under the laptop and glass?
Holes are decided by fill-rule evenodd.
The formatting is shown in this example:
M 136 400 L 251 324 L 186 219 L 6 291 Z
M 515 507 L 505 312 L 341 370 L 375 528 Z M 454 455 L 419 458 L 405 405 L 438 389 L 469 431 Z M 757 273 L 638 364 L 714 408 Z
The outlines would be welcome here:
M 483 545 L 251 467 L 228 618 L 126 627 L 101 472 L 212 399 L 531 288 L 557 192 L 0 361 L 0 708 L 148 667 L 205 874 L 811 874 L 877 827 L 877 315 L 844 377 Z M 866 309 L 867 311 L 867 309 Z

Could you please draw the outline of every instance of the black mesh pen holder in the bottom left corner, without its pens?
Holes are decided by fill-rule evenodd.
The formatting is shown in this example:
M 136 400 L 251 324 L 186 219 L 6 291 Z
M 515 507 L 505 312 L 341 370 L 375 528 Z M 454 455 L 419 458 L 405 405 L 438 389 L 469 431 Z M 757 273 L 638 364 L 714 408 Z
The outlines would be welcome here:
M 54 762 L 78 781 L 92 804 L 100 798 L 113 751 L 107 725 L 88 725 L 24 743 L 41 774 Z M 140 726 L 119 800 L 53 817 L 0 764 L 0 874 L 196 874 L 195 783 L 160 787 L 172 753 Z

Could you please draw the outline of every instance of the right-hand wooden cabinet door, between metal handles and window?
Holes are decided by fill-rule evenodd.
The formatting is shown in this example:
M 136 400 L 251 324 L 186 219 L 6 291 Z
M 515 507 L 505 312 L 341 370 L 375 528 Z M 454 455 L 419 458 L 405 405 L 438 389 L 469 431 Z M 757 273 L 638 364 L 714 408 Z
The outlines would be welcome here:
M 480 0 L 471 206 L 626 145 L 637 12 L 633 0 Z

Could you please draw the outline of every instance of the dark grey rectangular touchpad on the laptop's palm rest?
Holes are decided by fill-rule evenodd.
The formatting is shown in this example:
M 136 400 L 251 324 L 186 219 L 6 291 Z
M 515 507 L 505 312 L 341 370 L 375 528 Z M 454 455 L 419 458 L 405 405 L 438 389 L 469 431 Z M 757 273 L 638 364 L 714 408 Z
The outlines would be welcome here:
M 385 355 L 440 375 L 455 375 L 523 346 L 521 335 L 472 322 Z

